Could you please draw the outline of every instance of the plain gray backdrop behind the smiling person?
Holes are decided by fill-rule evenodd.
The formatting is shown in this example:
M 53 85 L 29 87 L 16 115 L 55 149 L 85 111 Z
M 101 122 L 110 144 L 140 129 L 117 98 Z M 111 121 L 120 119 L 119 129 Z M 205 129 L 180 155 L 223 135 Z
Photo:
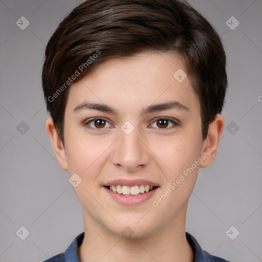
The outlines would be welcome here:
M 223 111 L 227 128 L 215 161 L 200 169 L 186 230 L 213 255 L 235 262 L 262 261 L 262 2 L 190 3 L 222 36 L 229 91 Z M 0 1 L 1 262 L 43 261 L 64 252 L 84 230 L 82 206 L 45 130 L 48 114 L 40 81 L 46 44 L 78 4 Z M 25 30 L 16 25 L 21 16 L 30 21 Z M 234 30 L 226 24 L 231 16 L 240 23 Z M 234 20 L 228 23 L 236 25 Z M 30 232 L 25 240 L 16 234 L 21 226 Z M 240 232 L 234 240 L 226 234 L 231 226 Z M 230 233 L 234 236 L 235 229 Z

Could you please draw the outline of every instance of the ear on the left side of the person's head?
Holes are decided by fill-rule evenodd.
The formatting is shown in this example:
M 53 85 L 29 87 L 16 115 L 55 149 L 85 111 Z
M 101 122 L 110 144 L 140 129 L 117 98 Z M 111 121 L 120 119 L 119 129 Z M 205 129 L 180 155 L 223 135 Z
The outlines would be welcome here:
M 65 154 L 64 146 L 54 126 L 54 121 L 51 117 L 48 118 L 46 122 L 46 130 L 52 142 L 53 150 L 55 152 L 58 164 L 62 169 L 68 170 L 67 155 Z

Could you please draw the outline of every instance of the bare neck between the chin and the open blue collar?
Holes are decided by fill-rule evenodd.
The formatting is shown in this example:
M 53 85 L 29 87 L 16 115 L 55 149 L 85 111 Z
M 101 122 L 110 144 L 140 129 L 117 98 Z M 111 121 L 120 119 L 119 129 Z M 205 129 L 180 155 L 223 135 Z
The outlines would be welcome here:
M 124 238 L 108 231 L 84 212 L 84 239 L 78 248 L 80 262 L 193 262 L 193 251 L 185 235 L 186 207 L 168 225 L 147 236 Z M 183 222 L 183 223 L 182 223 Z

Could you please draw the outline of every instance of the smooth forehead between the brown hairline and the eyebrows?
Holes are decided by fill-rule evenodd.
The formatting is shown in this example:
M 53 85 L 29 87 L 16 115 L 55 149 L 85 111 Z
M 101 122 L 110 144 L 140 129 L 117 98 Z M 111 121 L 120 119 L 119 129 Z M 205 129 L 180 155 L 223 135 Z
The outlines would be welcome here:
M 188 108 L 199 106 L 184 61 L 176 54 L 157 52 L 104 61 L 71 85 L 70 111 L 84 100 L 118 106 L 119 111 L 171 100 Z

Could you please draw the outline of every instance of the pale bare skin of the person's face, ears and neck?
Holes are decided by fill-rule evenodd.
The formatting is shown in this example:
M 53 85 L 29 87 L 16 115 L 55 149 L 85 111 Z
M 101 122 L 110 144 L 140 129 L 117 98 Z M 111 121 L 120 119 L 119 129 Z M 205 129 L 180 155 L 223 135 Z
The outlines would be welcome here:
M 199 167 L 214 160 L 224 129 L 217 114 L 205 140 L 201 134 L 200 102 L 189 77 L 174 79 L 183 61 L 171 53 L 143 52 L 132 58 L 105 61 L 70 87 L 64 115 L 64 145 L 52 118 L 46 122 L 60 167 L 82 182 L 73 187 L 83 206 L 84 239 L 78 248 L 80 262 L 166 261 L 192 262 L 193 251 L 185 236 L 188 200 Z M 87 109 L 74 112 L 83 102 L 114 107 L 118 115 Z M 141 115 L 152 104 L 178 101 L 188 110 L 172 108 Z M 55 102 L 55 101 L 54 101 Z M 84 124 L 94 117 L 105 120 Z M 181 125 L 162 127 L 156 118 L 171 118 Z M 121 126 L 134 130 L 126 135 Z M 193 172 L 158 206 L 157 200 L 194 161 L 205 156 Z M 211 175 L 211 174 L 210 174 Z M 114 179 L 146 179 L 159 184 L 152 199 L 137 206 L 115 202 L 103 184 Z M 134 235 L 121 231 L 130 227 Z

